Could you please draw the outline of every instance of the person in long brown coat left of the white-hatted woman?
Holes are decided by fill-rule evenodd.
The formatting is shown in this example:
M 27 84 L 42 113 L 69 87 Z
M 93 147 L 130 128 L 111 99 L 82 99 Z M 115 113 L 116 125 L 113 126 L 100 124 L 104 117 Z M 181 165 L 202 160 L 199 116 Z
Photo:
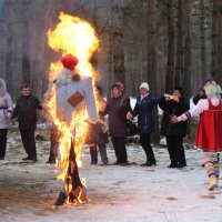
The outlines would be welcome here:
M 107 108 L 100 114 L 109 114 L 109 132 L 114 148 L 117 162 L 114 164 L 127 164 L 128 155 L 125 149 L 127 113 L 131 110 L 130 98 L 123 93 L 119 83 L 111 88 L 112 97 L 108 100 Z

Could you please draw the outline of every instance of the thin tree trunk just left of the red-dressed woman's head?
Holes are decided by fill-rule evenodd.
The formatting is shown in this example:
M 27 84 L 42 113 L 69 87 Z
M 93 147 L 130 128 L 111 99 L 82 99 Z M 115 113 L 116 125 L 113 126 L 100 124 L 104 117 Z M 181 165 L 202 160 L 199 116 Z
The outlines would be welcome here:
M 204 0 L 200 0 L 200 32 L 201 32 L 201 79 L 202 82 L 206 79 L 206 62 L 205 62 L 205 9 Z

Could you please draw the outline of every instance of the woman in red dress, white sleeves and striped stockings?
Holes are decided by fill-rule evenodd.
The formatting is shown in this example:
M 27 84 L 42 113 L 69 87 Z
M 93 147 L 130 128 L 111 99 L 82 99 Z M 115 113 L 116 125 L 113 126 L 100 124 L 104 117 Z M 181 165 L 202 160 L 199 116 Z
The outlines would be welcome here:
M 222 100 L 221 89 L 213 81 L 206 81 L 204 90 L 208 99 L 202 99 L 199 103 L 184 112 L 182 115 L 173 115 L 171 121 L 186 121 L 190 118 L 199 117 L 195 143 L 196 147 L 203 150 L 205 171 L 209 176 L 209 190 L 212 191 L 219 185 L 219 161 L 216 152 L 222 151 Z

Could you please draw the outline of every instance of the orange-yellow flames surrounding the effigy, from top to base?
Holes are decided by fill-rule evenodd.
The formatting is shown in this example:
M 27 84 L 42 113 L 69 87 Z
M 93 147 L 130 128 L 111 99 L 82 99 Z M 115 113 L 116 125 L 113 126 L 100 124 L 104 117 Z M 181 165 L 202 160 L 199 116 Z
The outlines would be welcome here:
M 95 31 L 92 26 L 78 18 L 61 12 L 59 16 L 60 22 L 54 30 L 48 31 L 49 47 L 62 54 L 71 53 L 79 59 L 79 63 L 75 68 L 78 73 L 92 77 L 93 83 L 97 79 L 97 72 L 90 63 L 92 53 L 99 48 L 99 40 L 95 36 Z M 61 62 L 57 61 L 51 63 L 49 80 L 50 82 L 57 77 L 57 73 L 61 70 Z M 77 163 L 82 165 L 82 147 L 88 134 L 88 114 L 85 108 L 78 113 L 73 113 L 72 123 L 62 121 L 62 118 L 58 115 L 56 108 L 56 85 L 50 89 L 50 97 L 48 97 L 47 109 L 52 122 L 57 125 L 60 133 L 59 139 L 59 153 L 58 161 L 59 169 L 62 173 L 58 176 L 59 180 L 65 180 L 69 155 L 71 148 L 71 138 L 74 141 L 74 152 L 77 157 Z M 73 133 L 74 131 L 74 133 Z M 71 188 L 67 188 L 70 190 Z M 81 202 L 81 194 L 79 194 L 79 202 Z

